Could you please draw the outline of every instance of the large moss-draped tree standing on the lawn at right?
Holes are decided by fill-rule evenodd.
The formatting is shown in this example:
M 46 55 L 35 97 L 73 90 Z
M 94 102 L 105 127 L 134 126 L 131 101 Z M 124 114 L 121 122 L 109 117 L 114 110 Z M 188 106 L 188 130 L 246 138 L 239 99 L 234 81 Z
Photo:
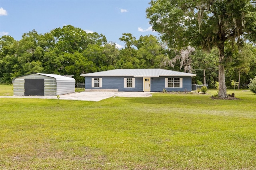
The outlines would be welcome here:
M 256 42 L 255 0 L 152 0 L 147 8 L 153 30 L 171 48 L 188 45 L 219 51 L 219 93 L 227 97 L 225 83 L 226 41 Z

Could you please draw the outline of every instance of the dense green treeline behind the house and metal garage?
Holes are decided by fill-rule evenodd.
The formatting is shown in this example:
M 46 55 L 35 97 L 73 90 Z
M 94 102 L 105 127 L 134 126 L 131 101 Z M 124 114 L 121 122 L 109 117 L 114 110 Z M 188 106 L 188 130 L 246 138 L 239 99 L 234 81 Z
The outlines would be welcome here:
M 204 81 L 214 87 L 218 81 L 218 50 L 203 51 L 193 47 L 168 49 L 157 37 L 122 34 L 125 43 L 118 49 L 114 42 L 96 32 L 86 33 L 68 25 L 45 34 L 36 30 L 25 33 L 20 41 L 11 36 L 0 38 L 0 83 L 12 83 L 14 77 L 29 73 L 74 75 L 83 82 L 80 74 L 118 68 L 162 68 L 196 73 L 193 83 Z M 225 58 L 226 85 L 239 81 L 248 84 L 256 75 L 256 47 L 249 43 L 227 43 Z

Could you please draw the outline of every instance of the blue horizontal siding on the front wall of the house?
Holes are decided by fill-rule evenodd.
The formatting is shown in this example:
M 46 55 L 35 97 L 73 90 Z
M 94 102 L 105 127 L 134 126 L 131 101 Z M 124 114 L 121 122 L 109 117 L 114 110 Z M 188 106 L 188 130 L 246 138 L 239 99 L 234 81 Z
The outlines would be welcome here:
M 165 78 L 179 77 L 182 78 L 182 88 L 165 88 Z M 169 77 L 150 77 L 150 91 L 191 91 L 190 76 L 169 76 Z M 92 87 L 92 78 L 102 78 L 102 87 Z M 135 78 L 134 88 L 124 88 L 124 78 Z M 118 89 L 118 91 L 143 91 L 143 77 L 85 77 L 85 89 Z

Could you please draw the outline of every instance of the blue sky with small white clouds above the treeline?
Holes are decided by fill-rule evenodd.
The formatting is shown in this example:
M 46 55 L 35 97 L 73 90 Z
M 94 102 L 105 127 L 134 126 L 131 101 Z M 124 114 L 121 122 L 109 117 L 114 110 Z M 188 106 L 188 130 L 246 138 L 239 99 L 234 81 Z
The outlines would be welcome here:
M 20 40 L 35 29 L 39 34 L 72 25 L 86 32 L 104 34 L 108 42 L 131 33 L 138 39 L 152 34 L 146 8 L 150 0 L 0 0 L 0 36 Z

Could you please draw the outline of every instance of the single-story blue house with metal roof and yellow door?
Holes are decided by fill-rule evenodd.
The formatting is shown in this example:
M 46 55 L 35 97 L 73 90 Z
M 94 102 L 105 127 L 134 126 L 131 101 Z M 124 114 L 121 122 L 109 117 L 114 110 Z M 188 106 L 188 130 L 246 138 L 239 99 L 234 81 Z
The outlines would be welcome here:
M 196 74 L 166 69 L 114 69 L 81 74 L 86 90 L 116 91 L 192 91 Z

